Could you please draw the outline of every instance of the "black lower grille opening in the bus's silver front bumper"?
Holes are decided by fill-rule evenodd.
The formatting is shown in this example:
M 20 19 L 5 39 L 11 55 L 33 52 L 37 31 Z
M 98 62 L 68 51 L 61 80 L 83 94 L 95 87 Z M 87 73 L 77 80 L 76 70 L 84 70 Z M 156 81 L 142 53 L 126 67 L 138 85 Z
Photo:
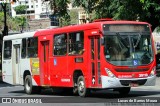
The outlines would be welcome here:
M 147 79 L 141 79 L 141 80 L 120 80 L 121 84 L 124 86 L 129 86 L 129 84 L 134 83 L 138 85 L 144 85 L 146 83 Z

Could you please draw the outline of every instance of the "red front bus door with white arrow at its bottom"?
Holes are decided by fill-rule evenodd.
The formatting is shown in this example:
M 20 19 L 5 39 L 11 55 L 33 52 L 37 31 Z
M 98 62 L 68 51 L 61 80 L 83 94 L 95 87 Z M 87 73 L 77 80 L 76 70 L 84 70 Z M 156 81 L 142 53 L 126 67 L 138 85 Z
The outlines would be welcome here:
M 91 36 L 90 39 L 90 66 L 92 74 L 92 86 L 100 86 L 100 36 Z

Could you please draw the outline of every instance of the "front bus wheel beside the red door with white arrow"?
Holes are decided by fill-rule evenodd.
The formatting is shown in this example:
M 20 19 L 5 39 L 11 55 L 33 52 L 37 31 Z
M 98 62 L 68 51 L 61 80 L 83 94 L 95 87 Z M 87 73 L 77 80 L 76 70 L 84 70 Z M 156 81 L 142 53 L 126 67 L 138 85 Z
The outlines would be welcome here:
M 79 76 L 78 77 L 77 86 L 78 86 L 78 94 L 79 94 L 79 96 L 81 96 L 81 97 L 88 96 L 89 89 L 86 88 L 85 79 L 84 79 L 83 76 Z

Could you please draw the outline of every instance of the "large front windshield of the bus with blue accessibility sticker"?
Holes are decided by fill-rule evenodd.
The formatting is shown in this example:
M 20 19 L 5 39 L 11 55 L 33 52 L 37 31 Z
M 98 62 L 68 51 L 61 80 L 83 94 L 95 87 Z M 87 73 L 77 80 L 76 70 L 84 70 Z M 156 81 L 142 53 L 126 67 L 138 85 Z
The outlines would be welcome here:
M 105 58 L 113 65 L 138 66 L 153 61 L 153 49 L 149 33 L 106 33 L 104 41 Z

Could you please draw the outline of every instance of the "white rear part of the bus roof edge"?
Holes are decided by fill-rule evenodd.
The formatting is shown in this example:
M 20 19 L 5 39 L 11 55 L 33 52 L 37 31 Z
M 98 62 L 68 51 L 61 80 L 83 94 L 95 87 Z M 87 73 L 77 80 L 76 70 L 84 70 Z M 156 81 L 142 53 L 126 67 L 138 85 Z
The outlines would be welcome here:
M 3 40 L 13 40 L 13 39 L 33 37 L 34 34 L 35 34 L 35 32 L 25 32 L 25 33 L 21 33 L 21 34 L 9 35 L 9 36 L 4 36 Z

